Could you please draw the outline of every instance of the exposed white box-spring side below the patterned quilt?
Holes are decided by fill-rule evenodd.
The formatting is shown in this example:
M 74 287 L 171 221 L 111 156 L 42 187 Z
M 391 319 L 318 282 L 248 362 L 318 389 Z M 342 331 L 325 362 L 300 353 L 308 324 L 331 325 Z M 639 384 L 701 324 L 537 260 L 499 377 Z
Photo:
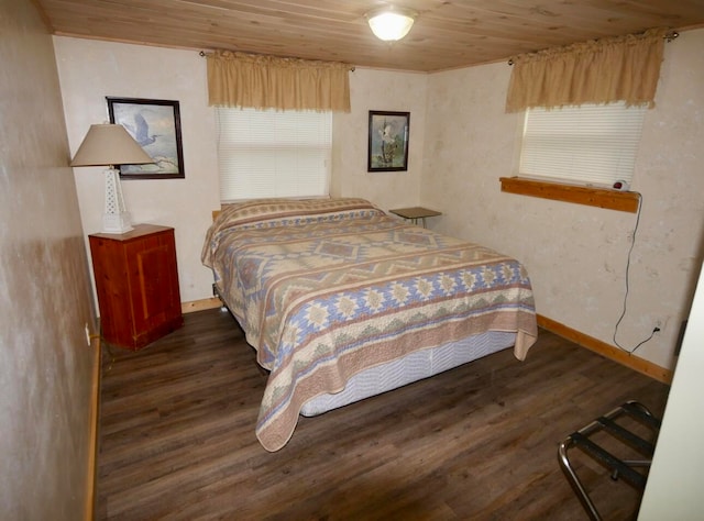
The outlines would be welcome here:
M 417 351 L 403 358 L 358 373 L 340 392 L 320 395 L 308 400 L 300 413 L 305 417 L 322 414 L 512 347 L 515 342 L 516 333 L 490 331 L 438 347 Z

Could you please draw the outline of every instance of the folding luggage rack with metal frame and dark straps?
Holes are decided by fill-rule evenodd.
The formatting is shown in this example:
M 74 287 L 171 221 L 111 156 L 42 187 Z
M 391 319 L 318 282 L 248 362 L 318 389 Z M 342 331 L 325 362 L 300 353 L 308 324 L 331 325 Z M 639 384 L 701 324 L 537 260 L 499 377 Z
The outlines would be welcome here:
M 653 441 L 649 442 L 629 431 L 625 426 L 617 423 L 619 419 L 632 418 L 639 423 L 646 425 L 653 433 Z M 608 413 L 598 417 L 593 422 L 583 426 L 579 431 L 573 432 L 564 439 L 558 448 L 558 461 L 565 477 L 570 481 L 572 489 L 576 494 L 579 500 L 586 510 L 586 513 L 594 521 L 601 521 L 601 516 L 586 492 L 584 486 L 580 481 L 569 458 L 568 451 L 571 447 L 579 447 L 588 456 L 610 469 L 612 479 L 622 477 L 624 481 L 632 487 L 644 490 L 646 488 L 647 473 L 639 473 L 635 467 L 649 467 L 654 452 L 654 440 L 657 440 L 660 431 L 660 420 L 637 401 L 627 401 Z M 619 442 L 630 446 L 638 453 L 642 454 L 646 459 L 619 459 L 601 445 L 596 444 L 590 436 L 597 432 L 606 432 Z

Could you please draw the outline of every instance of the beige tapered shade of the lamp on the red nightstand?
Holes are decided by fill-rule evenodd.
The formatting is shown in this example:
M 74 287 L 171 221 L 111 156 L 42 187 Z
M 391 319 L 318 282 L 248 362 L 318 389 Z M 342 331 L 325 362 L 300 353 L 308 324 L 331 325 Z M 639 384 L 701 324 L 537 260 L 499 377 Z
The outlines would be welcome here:
M 90 125 L 70 166 L 143 165 L 154 163 L 122 125 Z

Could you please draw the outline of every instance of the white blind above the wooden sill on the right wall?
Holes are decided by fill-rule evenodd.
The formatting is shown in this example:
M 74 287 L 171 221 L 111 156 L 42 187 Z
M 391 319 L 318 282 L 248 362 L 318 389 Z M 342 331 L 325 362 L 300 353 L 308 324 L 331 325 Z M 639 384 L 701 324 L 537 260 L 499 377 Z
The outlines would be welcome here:
M 630 184 L 646 110 L 623 102 L 527 110 L 520 175 L 585 185 Z

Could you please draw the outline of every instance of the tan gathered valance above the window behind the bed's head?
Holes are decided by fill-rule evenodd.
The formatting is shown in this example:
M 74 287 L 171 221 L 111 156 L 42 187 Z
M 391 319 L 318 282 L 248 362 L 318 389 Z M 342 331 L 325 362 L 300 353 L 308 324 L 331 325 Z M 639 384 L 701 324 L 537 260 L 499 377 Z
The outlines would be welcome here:
M 210 106 L 350 112 L 350 65 L 230 51 L 207 58 Z

